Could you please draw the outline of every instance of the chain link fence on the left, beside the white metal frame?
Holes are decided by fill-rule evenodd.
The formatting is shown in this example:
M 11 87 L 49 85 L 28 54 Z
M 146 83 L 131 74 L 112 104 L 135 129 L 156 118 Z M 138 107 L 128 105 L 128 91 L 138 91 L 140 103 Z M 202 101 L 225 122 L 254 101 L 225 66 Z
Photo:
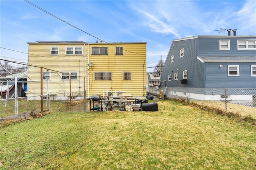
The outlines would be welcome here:
M 73 94 L 73 93 L 72 93 Z M 65 98 L 59 100 L 58 96 Z M 37 117 L 42 111 L 52 112 L 70 104 L 69 93 L 59 93 L 54 95 L 42 95 L 43 101 L 41 104 L 41 96 L 33 97 L 18 97 L 12 99 L 0 99 L 0 122 L 8 119 L 22 119 L 26 117 Z M 71 96 L 71 101 L 76 100 L 76 97 Z

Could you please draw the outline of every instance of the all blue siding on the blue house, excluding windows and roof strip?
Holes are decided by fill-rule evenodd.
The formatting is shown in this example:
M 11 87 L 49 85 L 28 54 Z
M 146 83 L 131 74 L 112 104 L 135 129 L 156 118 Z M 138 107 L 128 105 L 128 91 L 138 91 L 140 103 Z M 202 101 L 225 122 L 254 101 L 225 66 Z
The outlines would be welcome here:
M 256 88 L 256 77 L 251 77 L 251 63 L 202 63 L 198 56 L 256 56 L 256 50 L 237 50 L 237 40 L 255 40 L 256 36 L 198 36 L 198 38 L 174 40 L 174 46 L 166 58 L 161 74 L 161 86 L 164 87 L 220 87 L 220 88 Z M 219 40 L 230 40 L 230 50 L 220 50 Z M 180 49 L 184 48 L 184 57 L 180 58 Z M 174 55 L 174 62 L 170 57 Z M 223 68 L 219 68 L 223 65 Z M 239 65 L 240 76 L 228 77 L 228 65 Z M 181 84 L 183 71 L 188 71 L 186 84 Z M 178 80 L 174 73 L 178 72 Z M 168 75 L 172 81 L 168 81 Z

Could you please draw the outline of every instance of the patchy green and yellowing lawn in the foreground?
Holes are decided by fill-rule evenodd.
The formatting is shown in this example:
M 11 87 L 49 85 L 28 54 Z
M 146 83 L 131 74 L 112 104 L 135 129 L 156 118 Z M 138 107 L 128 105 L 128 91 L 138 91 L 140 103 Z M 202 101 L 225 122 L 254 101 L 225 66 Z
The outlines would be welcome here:
M 0 129 L 0 169 L 256 169 L 256 127 L 164 100 L 156 112 L 50 113 Z

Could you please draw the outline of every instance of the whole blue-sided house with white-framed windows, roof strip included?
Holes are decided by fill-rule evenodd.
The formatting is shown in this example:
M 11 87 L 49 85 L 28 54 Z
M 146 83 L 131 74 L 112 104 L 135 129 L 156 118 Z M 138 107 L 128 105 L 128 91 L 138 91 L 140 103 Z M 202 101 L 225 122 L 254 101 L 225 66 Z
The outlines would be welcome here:
M 256 88 L 256 36 L 173 40 L 161 87 Z

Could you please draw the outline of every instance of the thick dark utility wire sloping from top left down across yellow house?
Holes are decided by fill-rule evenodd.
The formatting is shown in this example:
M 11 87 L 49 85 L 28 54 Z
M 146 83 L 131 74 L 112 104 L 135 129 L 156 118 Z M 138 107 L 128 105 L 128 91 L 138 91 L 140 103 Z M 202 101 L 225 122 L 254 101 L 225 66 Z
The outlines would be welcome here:
M 35 5 L 35 4 L 33 4 L 32 2 L 29 2 L 28 0 L 24 0 L 24 1 L 25 1 L 25 2 L 28 2 L 30 5 L 32 5 L 32 6 L 34 6 L 34 7 L 36 7 L 36 8 L 38 8 L 38 9 L 42 10 L 43 12 L 46 12 L 46 13 L 49 14 L 50 16 L 53 16 L 54 18 L 57 18 L 58 20 L 60 20 L 60 21 L 62 21 L 62 22 L 65 22 L 66 24 L 68 24 L 68 25 L 70 25 L 70 26 L 76 28 L 77 30 L 80 30 L 80 31 L 84 32 L 85 34 L 88 34 L 89 36 L 92 36 L 92 37 L 94 37 L 94 38 L 96 38 L 96 39 L 98 39 L 98 40 L 100 40 L 100 41 L 102 41 L 102 42 L 105 42 L 104 40 L 101 40 L 100 38 L 97 38 L 96 36 L 93 36 L 92 34 L 89 34 L 88 32 L 85 32 L 84 30 L 81 30 L 80 28 L 78 28 L 78 27 L 76 27 L 76 26 L 74 26 L 74 25 L 72 25 L 72 24 L 66 22 L 65 20 L 62 20 L 61 18 L 55 16 L 54 14 L 51 14 L 50 12 L 44 10 L 43 8 L 41 8 L 41 7 L 39 7 L 39 6 Z M 108 43 L 108 42 L 105 42 L 105 43 L 107 43 L 107 44 L 109 44 L 109 45 L 113 45 L 113 44 Z M 113 45 L 113 46 L 114 46 L 114 47 L 117 47 L 116 45 Z M 139 54 L 139 55 L 144 55 L 144 54 L 132 52 L 132 51 L 129 51 L 129 50 L 126 50 L 126 49 L 123 49 L 123 50 L 124 50 L 124 51 L 128 51 L 128 52 L 131 52 L 131 53 Z

